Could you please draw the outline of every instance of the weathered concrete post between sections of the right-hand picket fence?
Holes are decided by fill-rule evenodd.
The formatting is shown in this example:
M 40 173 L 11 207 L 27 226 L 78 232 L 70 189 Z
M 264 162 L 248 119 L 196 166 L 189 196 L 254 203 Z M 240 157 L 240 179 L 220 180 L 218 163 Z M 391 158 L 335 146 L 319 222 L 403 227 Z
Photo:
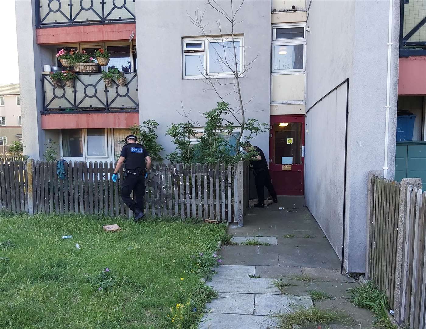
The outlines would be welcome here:
M 397 236 L 397 263 L 395 267 L 395 292 L 394 292 L 394 311 L 395 319 L 398 323 L 404 321 L 401 317 L 405 318 L 405 314 L 401 314 L 401 296 L 405 292 L 402 291 L 402 266 L 403 266 L 403 250 L 404 250 L 404 237 L 406 234 L 406 217 L 407 217 L 407 191 L 408 186 L 422 188 L 422 181 L 420 178 L 404 178 L 400 184 L 400 205 L 398 214 L 398 236 Z

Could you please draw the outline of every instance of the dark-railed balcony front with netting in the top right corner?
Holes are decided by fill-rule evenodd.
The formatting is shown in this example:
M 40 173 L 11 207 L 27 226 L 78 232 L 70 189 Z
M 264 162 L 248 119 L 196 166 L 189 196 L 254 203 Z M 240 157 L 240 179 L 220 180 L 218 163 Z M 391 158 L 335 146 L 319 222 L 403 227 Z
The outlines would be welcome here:
M 426 55 L 424 0 L 401 0 L 400 57 Z

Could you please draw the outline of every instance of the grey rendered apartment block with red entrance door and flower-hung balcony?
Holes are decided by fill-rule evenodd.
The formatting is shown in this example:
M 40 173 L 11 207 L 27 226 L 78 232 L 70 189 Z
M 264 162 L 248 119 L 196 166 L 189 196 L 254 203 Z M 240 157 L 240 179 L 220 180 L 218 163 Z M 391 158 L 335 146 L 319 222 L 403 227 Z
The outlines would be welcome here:
M 368 172 L 394 177 L 400 0 L 218 3 L 228 17 L 203 0 L 17 2 L 27 154 L 42 159 L 53 145 L 66 160 L 112 161 L 129 127 L 148 119 L 159 123 L 164 154 L 175 149 L 171 123 L 190 120 L 202 133 L 204 112 L 238 105 L 223 62 L 236 12 L 246 118 L 270 125 L 253 144 L 279 194 L 305 195 L 346 270 L 363 272 Z M 59 65 L 60 49 L 101 47 L 127 86 L 84 73 L 55 88 L 43 72 Z

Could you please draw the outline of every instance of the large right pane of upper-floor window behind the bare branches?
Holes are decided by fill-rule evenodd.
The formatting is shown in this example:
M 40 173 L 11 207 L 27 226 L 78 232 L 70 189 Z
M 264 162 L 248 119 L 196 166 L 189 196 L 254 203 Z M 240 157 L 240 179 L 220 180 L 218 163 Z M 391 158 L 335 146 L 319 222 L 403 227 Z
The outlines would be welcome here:
M 234 41 L 238 72 L 240 65 L 240 41 Z M 231 67 L 232 70 L 229 69 Z M 209 43 L 209 73 L 233 72 L 235 69 L 234 50 L 232 41 Z

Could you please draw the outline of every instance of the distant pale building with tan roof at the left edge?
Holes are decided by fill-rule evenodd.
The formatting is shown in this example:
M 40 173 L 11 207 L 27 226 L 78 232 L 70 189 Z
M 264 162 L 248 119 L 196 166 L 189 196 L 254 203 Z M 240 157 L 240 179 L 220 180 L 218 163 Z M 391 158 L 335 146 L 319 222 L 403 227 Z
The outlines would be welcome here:
M 19 84 L 0 84 L 0 154 L 3 154 L 3 145 L 22 142 L 21 128 Z

